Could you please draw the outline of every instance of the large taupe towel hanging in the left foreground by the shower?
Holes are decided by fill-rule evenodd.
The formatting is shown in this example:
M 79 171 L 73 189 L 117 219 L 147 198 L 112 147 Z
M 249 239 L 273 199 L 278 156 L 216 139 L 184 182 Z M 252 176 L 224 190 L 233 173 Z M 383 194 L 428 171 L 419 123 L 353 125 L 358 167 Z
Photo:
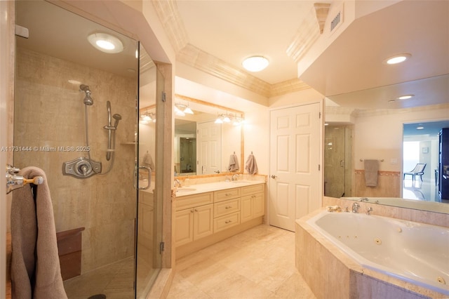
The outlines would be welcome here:
M 65 299 L 55 220 L 45 173 L 23 168 L 24 178 L 41 176 L 34 197 L 30 185 L 14 190 L 11 204 L 11 293 L 12 298 Z

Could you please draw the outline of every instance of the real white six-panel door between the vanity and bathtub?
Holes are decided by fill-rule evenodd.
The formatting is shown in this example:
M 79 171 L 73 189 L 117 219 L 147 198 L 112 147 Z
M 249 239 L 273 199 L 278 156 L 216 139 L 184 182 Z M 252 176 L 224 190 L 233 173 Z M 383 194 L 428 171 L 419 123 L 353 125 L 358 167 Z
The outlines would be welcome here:
M 269 224 L 295 231 L 295 220 L 321 206 L 320 104 L 270 115 Z

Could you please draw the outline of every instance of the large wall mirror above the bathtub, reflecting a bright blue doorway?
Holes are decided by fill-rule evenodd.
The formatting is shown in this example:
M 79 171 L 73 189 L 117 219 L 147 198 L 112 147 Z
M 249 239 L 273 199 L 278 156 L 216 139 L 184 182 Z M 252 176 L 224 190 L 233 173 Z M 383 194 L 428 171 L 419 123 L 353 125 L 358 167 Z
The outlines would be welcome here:
M 361 160 L 377 159 L 380 161 L 380 173 L 390 175 L 380 184 L 380 188 L 384 190 L 382 193 L 388 194 L 380 196 L 385 197 L 380 199 L 380 204 L 449 213 L 447 201 L 438 202 L 436 180 L 438 131 L 449 127 L 449 103 L 444 104 L 444 99 L 449 99 L 449 75 L 410 81 L 407 84 L 408 87 L 414 88 L 415 96 L 419 95 L 419 86 L 422 93 L 427 91 L 429 98 L 440 98 L 443 104 L 436 102 L 435 105 L 397 109 L 366 109 L 363 105 L 351 105 L 351 102 L 354 102 L 351 98 L 369 98 L 369 105 L 373 105 L 380 94 L 385 98 L 393 98 L 391 91 L 396 90 L 398 86 L 384 86 L 328 97 L 330 101 L 326 106 L 324 148 L 325 196 L 355 199 L 370 197 L 363 193 L 364 166 Z M 333 105 L 334 100 L 342 105 Z M 347 101 L 346 105 L 344 101 Z M 416 129 L 418 125 L 425 129 L 438 125 L 438 128 L 433 131 L 421 131 Z M 407 148 L 407 142 L 417 143 L 417 160 L 414 163 L 427 163 L 424 182 L 420 178 L 413 181 L 403 177 L 403 172 L 410 171 L 414 166 L 408 163 L 411 150 Z M 385 184 L 386 181 L 389 184 Z

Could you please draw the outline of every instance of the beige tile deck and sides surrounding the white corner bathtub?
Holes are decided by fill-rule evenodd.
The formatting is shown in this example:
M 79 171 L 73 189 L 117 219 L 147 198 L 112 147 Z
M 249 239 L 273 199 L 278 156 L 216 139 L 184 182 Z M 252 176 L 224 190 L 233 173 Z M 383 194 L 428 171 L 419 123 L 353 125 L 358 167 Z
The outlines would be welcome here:
M 335 199 L 323 201 L 323 205 L 340 205 L 342 210 L 352 203 L 354 201 Z M 365 211 L 366 207 L 363 205 L 365 203 L 359 204 L 361 204 L 361 211 Z M 325 211 L 325 209 L 323 208 L 321 211 Z M 335 244 L 306 222 L 321 211 L 316 211 L 297 220 L 295 233 L 296 267 L 317 298 L 335 298 L 335 292 L 338 294 L 337 298 L 447 297 L 428 288 L 370 270 L 356 263 L 347 253 L 337 248 Z M 381 209 L 375 206 L 373 213 L 375 211 L 380 213 Z M 413 218 L 415 214 L 411 213 L 409 218 Z M 437 222 L 442 222 L 442 220 L 438 219 Z M 310 269 L 314 269 L 314 271 Z M 342 286 L 349 286 L 349 288 L 342 288 Z

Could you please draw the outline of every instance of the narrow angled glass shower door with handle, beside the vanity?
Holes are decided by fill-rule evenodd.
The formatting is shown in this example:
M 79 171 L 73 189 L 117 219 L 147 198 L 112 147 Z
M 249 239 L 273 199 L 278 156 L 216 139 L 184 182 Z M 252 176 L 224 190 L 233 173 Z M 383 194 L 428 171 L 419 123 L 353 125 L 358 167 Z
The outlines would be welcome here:
M 161 270 L 162 203 L 156 197 L 156 107 L 164 79 L 145 48 L 140 46 L 139 121 L 137 125 L 138 218 L 136 298 L 146 298 Z

